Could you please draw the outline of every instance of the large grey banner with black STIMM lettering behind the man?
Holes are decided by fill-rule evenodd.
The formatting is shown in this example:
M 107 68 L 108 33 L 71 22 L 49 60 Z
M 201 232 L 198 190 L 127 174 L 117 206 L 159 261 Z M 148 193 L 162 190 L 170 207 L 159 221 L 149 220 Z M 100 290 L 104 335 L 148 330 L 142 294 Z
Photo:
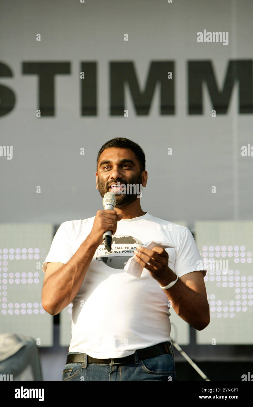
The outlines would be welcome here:
M 1 222 L 94 216 L 96 155 L 117 136 L 145 151 L 144 211 L 252 218 L 252 2 L 1 9 Z

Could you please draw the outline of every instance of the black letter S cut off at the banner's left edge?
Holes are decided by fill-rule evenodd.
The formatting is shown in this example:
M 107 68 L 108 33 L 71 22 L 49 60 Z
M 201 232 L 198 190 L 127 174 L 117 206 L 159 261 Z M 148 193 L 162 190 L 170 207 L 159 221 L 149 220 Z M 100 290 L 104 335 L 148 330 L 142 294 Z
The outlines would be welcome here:
M 9 66 L 5 63 L 0 62 L 0 77 L 13 77 L 13 74 Z M 0 116 L 11 112 L 15 105 L 15 93 L 7 86 L 0 85 Z

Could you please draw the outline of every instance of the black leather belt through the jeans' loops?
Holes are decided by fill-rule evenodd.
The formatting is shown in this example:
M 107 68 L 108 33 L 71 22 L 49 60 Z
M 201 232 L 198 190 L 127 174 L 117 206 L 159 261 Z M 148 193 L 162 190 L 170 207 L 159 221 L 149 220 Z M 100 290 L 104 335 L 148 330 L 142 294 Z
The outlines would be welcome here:
M 159 346 L 159 348 L 156 348 L 156 346 Z M 172 347 L 171 344 L 167 344 L 165 342 L 162 342 L 161 344 L 154 345 L 154 346 L 149 346 L 148 348 L 145 349 L 139 349 L 136 351 L 138 354 L 138 360 L 142 359 L 150 359 L 152 357 L 159 356 L 160 354 L 164 353 L 170 353 L 173 355 Z M 67 355 L 67 363 L 83 363 L 84 362 L 84 353 L 72 353 Z M 103 363 L 103 364 L 110 364 L 112 363 L 111 360 L 113 360 L 113 363 L 134 363 L 134 354 L 126 356 L 126 357 L 121 357 L 121 358 L 112 358 L 112 359 L 96 359 L 94 357 L 91 357 L 87 355 L 87 364 L 89 363 Z

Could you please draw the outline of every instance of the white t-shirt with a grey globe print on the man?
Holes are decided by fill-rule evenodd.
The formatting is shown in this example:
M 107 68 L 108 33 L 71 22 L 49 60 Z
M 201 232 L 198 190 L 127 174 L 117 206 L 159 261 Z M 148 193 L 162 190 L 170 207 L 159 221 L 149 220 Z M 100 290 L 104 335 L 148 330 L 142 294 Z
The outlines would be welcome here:
M 48 262 L 67 263 L 91 232 L 95 216 L 63 222 L 58 228 L 42 270 Z M 97 247 L 72 304 L 69 352 L 98 359 L 125 357 L 164 341 L 171 341 L 168 298 L 147 269 L 140 280 L 123 268 L 138 244 L 151 241 L 167 248 L 169 267 L 178 277 L 203 270 L 199 249 L 190 230 L 148 212 L 121 219 L 112 236 L 112 250 Z M 206 271 L 203 271 L 205 275 Z

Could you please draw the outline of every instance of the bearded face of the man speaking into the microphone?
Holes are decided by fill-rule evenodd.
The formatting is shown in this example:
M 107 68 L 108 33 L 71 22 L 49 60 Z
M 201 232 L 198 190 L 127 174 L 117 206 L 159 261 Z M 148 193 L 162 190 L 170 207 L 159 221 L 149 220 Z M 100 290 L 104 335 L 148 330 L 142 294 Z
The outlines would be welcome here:
M 115 208 L 124 208 L 138 199 L 137 193 L 140 187 L 137 187 L 137 184 L 146 186 L 147 171 L 141 173 L 140 164 L 132 150 L 110 147 L 99 157 L 96 179 L 96 188 L 102 198 L 106 192 L 115 193 Z M 112 184 L 117 185 L 118 182 L 126 187 L 128 184 L 136 184 L 136 193 L 120 194 L 120 190 L 110 188 Z M 131 188 L 129 190 L 131 191 Z

